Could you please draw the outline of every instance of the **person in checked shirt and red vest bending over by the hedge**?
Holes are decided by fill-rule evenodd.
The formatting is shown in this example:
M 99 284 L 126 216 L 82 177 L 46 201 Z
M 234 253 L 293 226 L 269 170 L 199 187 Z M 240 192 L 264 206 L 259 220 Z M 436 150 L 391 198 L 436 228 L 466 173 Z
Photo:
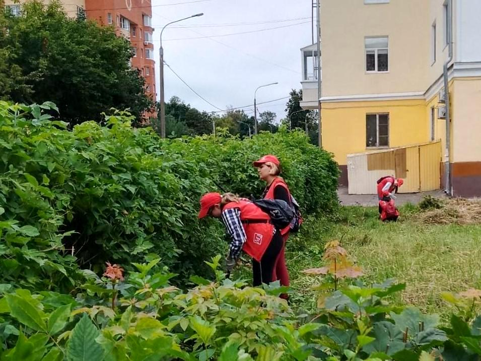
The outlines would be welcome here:
M 237 263 L 242 251 L 252 257 L 253 285 L 273 281 L 274 265 L 282 249 L 281 232 L 270 222 L 270 216 L 244 198 L 227 193 L 208 193 L 200 198 L 198 217 L 222 219 L 231 237 L 227 271 Z

